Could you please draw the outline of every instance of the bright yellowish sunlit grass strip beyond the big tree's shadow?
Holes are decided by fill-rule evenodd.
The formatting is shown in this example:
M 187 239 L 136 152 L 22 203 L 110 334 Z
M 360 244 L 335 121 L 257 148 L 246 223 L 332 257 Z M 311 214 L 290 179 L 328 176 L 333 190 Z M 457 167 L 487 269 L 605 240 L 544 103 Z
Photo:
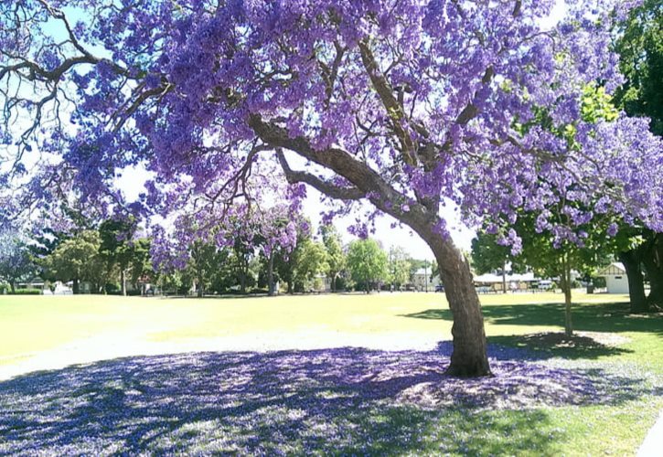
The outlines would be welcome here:
M 578 296 L 578 301 L 615 301 L 615 296 Z M 624 299 L 616 296 L 616 299 Z M 484 295 L 485 307 L 500 304 L 559 303 L 560 294 Z M 543 306 L 546 306 L 545 304 Z M 101 295 L 0 296 L 0 364 L 94 336 L 157 342 L 237 335 L 329 333 L 419 335 L 450 339 L 449 319 L 406 319 L 425 310 L 447 310 L 441 293 L 298 295 L 274 298 L 159 299 Z M 563 324 L 506 324 L 487 316 L 487 335 L 558 330 Z

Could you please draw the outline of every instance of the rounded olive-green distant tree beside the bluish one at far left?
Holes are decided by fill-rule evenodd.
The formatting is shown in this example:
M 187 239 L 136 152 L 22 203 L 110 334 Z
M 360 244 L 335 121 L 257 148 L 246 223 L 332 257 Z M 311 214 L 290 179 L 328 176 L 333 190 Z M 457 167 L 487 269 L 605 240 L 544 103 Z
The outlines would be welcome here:
M 48 274 L 58 281 L 73 282 L 73 292 L 80 293 L 80 282 L 91 282 L 94 292 L 100 292 L 111 271 L 100 255 L 101 239 L 96 230 L 85 230 L 62 241 L 46 258 Z

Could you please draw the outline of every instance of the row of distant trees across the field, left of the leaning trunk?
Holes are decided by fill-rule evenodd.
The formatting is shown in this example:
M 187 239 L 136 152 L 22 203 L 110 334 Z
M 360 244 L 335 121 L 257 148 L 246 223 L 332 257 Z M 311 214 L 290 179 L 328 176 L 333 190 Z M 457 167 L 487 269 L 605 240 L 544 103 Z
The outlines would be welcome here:
M 16 292 L 18 282 L 40 278 L 45 287 L 70 283 L 73 293 L 206 294 L 401 290 L 425 260 L 412 259 L 400 247 L 383 250 L 375 239 L 344 244 L 337 229 L 323 226 L 314 237 L 306 222 L 297 228 L 292 250 L 262 250 L 267 239 L 246 232 L 219 246 L 214 239 L 191 239 L 177 249 L 161 247 L 184 262 L 161 268 L 155 262 L 154 237 L 134 219 L 78 220 L 68 232 L 46 229 L 28 235 L 0 234 L 0 282 Z M 186 256 L 182 249 L 186 250 Z M 326 283 L 328 283 L 328 286 Z M 83 288 L 85 284 L 85 288 Z

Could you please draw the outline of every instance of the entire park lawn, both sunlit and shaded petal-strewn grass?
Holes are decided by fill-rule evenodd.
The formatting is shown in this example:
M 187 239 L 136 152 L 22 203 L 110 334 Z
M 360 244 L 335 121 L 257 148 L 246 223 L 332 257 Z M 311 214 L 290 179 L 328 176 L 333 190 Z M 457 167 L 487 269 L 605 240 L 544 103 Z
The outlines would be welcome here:
M 575 294 L 566 341 L 561 299 L 482 296 L 497 376 L 465 382 L 439 293 L 2 296 L 0 454 L 634 454 L 663 316 Z

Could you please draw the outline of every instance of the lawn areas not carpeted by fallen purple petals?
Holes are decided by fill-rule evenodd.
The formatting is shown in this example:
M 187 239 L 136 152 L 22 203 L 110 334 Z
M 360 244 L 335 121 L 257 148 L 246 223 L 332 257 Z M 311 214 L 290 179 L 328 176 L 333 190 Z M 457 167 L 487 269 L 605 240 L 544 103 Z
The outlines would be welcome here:
M 551 344 L 546 337 L 535 335 L 561 332 L 561 299 L 560 294 L 552 293 L 482 296 L 489 342 L 527 348 L 535 351 L 537 358 L 562 366 L 601 367 L 632 378 L 634 383 L 651 384 L 644 389 L 646 393 L 593 406 L 501 411 L 460 407 L 348 410 L 348 420 L 355 423 L 350 430 L 356 430 L 357 440 L 365 440 L 369 433 L 375 439 L 374 453 L 398 453 L 395 446 L 412 442 L 412 447 L 401 451 L 634 454 L 663 408 L 663 316 L 628 314 L 626 296 L 575 294 L 573 322 L 577 331 L 622 338 L 615 345 L 583 338 L 571 345 L 564 341 Z M 214 339 L 259 339 L 270 345 L 279 343 L 284 335 L 291 339 L 301 335 L 303 340 L 314 335 L 325 343 L 335 340 L 342 346 L 357 336 L 375 341 L 449 340 L 451 324 L 451 314 L 439 293 L 204 300 L 0 296 L 0 368 L 100 337 L 137 345 L 186 345 Z M 348 440 L 353 442 L 352 436 L 348 435 Z M 350 451 L 344 446 L 339 444 L 337 452 Z M 322 443 L 320 447 L 325 449 Z

